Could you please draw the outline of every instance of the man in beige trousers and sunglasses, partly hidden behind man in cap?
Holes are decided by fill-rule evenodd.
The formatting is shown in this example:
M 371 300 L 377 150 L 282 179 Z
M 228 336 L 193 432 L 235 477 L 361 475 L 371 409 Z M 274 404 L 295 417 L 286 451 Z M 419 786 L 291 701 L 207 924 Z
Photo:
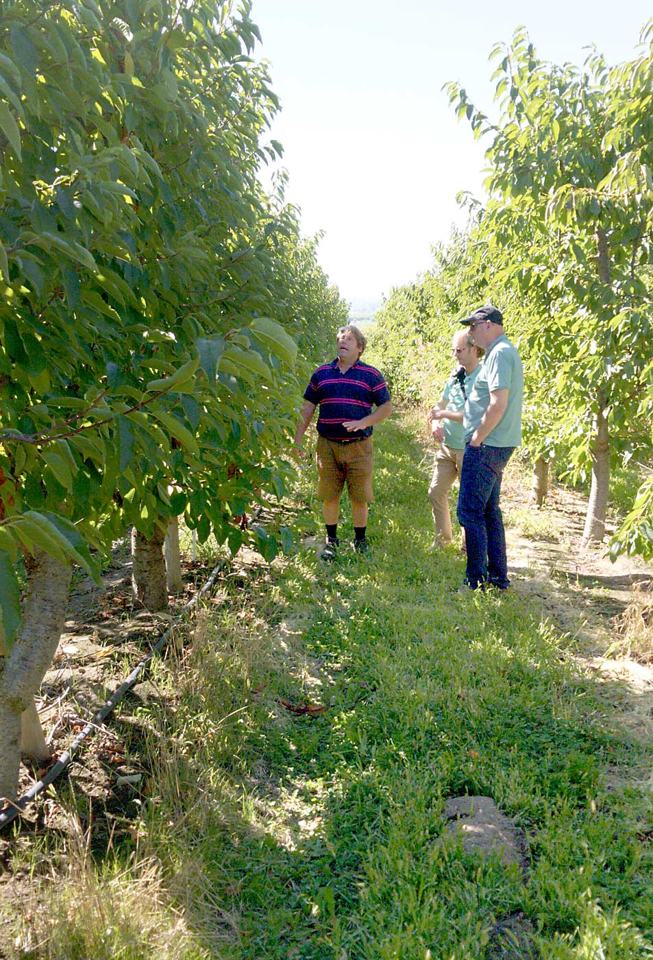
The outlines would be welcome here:
M 457 330 L 454 334 L 454 356 L 459 366 L 445 384 L 442 396 L 431 410 L 431 433 L 439 444 L 435 454 L 435 464 L 429 499 L 435 526 L 433 547 L 447 546 L 452 541 L 452 518 L 449 512 L 448 496 L 455 479 L 460 476 L 462 455 L 465 444 L 462 437 L 462 410 L 465 400 L 477 378 L 479 358 L 485 351 L 472 343 L 467 330 Z M 464 544 L 464 530 L 463 530 Z

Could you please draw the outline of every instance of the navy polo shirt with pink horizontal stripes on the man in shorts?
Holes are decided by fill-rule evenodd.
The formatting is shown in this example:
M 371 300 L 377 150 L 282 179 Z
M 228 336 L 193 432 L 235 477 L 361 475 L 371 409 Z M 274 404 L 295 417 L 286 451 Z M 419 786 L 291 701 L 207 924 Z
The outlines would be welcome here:
M 304 399 L 319 406 L 317 433 L 327 440 L 354 440 L 370 437 L 372 427 L 349 433 L 342 424 L 345 420 L 362 420 L 390 398 L 383 375 L 366 363 L 357 360 L 342 373 L 338 359 L 318 367 L 306 388 Z

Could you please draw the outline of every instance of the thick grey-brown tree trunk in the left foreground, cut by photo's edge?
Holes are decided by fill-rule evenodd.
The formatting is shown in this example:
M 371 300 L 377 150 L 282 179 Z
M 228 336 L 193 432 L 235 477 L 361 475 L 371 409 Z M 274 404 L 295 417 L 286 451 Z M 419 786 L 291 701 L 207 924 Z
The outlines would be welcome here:
M 21 714 L 28 711 L 28 726 L 30 719 L 38 722 L 34 695 L 57 652 L 72 574 L 69 564 L 40 550 L 26 566 L 22 626 L 0 666 L 0 797 L 8 800 L 18 789 Z

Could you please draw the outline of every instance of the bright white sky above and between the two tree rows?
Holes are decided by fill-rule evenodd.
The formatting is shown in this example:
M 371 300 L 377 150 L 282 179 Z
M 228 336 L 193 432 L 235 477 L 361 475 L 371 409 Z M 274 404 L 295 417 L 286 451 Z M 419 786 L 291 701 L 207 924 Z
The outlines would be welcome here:
M 546 60 L 581 63 L 595 44 L 613 64 L 636 56 L 652 15 L 645 0 L 253 0 L 255 56 L 281 100 L 269 135 L 284 146 L 286 198 L 303 234 L 324 232 L 320 265 L 353 310 L 429 269 L 431 246 L 465 223 L 459 191 L 482 197 L 484 148 L 443 84 L 489 112 L 488 57 L 517 27 Z

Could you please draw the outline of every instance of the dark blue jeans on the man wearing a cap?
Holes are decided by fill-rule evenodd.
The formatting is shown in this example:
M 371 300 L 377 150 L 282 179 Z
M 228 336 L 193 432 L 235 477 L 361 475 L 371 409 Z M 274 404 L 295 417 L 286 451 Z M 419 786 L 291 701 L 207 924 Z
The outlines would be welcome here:
M 465 528 L 465 583 L 472 589 L 482 589 L 486 583 L 500 589 L 510 586 L 499 494 L 503 468 L 514 449 L 485 444 L 465 447 L 456 513 Z

